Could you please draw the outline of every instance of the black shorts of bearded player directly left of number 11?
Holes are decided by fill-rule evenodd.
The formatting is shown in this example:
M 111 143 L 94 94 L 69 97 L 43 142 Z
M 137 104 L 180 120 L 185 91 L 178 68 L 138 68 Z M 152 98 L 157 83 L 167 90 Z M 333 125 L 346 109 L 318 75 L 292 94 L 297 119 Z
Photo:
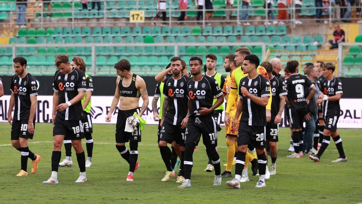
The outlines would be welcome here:
M 168 121 L 164 121 L 160 130 L 160 140 L 185 146 L 185 129 L 181 125 L 173 125 Z

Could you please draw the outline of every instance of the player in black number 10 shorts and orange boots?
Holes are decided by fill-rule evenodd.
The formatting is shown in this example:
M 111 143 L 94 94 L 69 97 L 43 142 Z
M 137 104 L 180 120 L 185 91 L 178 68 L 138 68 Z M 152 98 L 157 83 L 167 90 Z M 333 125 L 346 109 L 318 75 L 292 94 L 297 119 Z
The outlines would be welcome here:
M 15 75 L 10 83 L 10 104 L 8 109 L 8 121 L 11 125 L 11 144 L 21 152 L 21 169 L 16 176 L 28 175 L 28 158 L 32 160 L 31 173 L 38 170 L 41 157 L 29 150 L 28 140 L 33 140 L 35 132 L 35 112 L 37 111 L 38 83 L 33 75 L 26 71 L 26 59 L 16 57 L 13 59 Z M 0 88 L 3 84 L 0 78 Z M 4 91 L 1 91 L 4 95 Z M 14 116 L 11 112 L 14 109 Z

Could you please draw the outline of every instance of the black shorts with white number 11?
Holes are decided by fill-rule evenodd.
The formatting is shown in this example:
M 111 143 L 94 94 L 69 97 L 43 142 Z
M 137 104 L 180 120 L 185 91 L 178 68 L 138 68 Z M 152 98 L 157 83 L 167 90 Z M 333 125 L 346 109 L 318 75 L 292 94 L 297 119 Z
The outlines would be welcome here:
M 185 143 L 197 141 L 197 146 L 201 135 L 205 146 L 216 147 L 218 145 L 216 122 L 211 115 L 189 117 L 185 130 Z

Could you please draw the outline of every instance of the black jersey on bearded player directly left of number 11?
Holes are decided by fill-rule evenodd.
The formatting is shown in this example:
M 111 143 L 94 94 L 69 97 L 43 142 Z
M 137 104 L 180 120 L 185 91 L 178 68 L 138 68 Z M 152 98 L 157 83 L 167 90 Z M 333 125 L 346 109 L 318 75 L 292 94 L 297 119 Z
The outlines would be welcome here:
M 187 83 L 190 78 L 182 74 L 180 79 L 173 79 L 173 76 L 165 80 L 163 96 L 168 99 L 168 108 L 165 120 L 173 125 L 181 125 L 187 115 Z

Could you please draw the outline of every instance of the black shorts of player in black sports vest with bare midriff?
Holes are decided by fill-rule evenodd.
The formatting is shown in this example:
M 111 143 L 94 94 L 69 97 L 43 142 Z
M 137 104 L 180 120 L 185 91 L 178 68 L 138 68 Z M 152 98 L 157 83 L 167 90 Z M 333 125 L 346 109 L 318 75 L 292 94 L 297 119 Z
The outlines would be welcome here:
M 133 113 L 139 113 L 139 108 L 127 110 L 127 111 L 118 111 L 117 124 L 115 125 L 115 142 L 116 143 L 125 143 L 125 142 L 140 142 L 141 141 L 141 130 L 137 126 L 138 132 L 126 132 L 126 120 L 128 117 L 133 116 Z

